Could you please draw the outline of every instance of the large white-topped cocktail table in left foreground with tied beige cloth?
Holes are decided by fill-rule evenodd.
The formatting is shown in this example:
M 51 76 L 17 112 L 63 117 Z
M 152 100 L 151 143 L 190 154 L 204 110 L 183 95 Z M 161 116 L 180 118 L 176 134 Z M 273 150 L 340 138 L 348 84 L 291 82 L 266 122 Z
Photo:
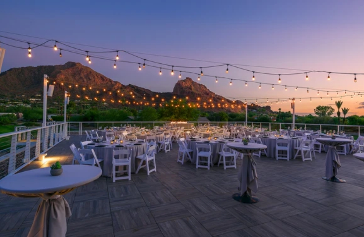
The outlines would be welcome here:
M 66 236 L 67 218 L 71 216 L 71 210 L 62 195 L 98 179 L 102 173 L 96 166 L 64 165 L 62 169 L 59 176 L 52 176 L 47 167 L 9 175 L 0 180 L 1 193 L 43 199 L 28 236 Z

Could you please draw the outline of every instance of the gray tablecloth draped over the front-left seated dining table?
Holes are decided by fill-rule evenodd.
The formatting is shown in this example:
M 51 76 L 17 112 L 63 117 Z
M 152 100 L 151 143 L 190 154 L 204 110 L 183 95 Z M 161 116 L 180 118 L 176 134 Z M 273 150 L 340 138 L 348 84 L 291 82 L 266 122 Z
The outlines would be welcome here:
M 135 159 L 139 155 L 143 155 L 147 150 L 147 144 L 142 143 L 142 145 L 131 145 L 128 146 L 123 144 L 124 147 L 115 147 L 115 145 L 107 145 L 106 147 L 97 147 L 97 145 L 87 145 L 87 149 L 94 149 L 95 154 L 98 158 L 104 159 L 102 175 L 111 177 L 112 170 L 112 151 L 119 149 L 131 149 L 131 172 L 135 173 L 136 168 L 139 165 L 140 160 Z

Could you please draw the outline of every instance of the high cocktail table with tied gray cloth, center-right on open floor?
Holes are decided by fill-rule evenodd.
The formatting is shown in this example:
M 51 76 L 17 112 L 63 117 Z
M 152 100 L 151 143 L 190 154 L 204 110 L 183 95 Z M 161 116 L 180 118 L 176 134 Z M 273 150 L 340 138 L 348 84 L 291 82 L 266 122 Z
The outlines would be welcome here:
M 252 154 L 256 151 L 266 149 L 267 146 L 258 143 L 248 143 L 247 145 L 244 145 L 244 143 L 241 142 L 227 143 L 226 145 L 244 155 L 240 171 L 238 172 L 240 193 L 233 194 L 233 199 L 243 203 L 258 202 L 259 198 L 253 196 L 253 192 L 256 193 L 258 191 L 258 175 L 255 168 L 257 163 L 253 159 Z

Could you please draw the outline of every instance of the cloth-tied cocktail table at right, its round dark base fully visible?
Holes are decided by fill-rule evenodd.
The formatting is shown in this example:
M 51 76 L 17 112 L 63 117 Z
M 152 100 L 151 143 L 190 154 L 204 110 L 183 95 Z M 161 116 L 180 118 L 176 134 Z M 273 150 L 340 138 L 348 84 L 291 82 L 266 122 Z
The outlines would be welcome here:
M 326 176 L 322 178 L 330 182 L 345 183 L 346 180 L 336 178 L 337 172 L 341 167 L 340 158 L 339 154 L 337 153 L 336 147 L 339 145 L 345 145 L 351 143 L 352 140 L 344 138 L 332 139 L 331 137 L 325 137 L 325 138 L 316 138 L 316 141 L 328 146 L 326 161 L 325 161 Z

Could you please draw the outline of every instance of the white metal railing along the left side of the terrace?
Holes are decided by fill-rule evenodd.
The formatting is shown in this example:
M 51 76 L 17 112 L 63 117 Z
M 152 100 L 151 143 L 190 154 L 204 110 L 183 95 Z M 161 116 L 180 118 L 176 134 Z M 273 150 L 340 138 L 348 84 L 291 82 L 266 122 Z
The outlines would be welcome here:
M 67 137 L 67 123 L 0 135 L 0 179 L 13 174 Z

